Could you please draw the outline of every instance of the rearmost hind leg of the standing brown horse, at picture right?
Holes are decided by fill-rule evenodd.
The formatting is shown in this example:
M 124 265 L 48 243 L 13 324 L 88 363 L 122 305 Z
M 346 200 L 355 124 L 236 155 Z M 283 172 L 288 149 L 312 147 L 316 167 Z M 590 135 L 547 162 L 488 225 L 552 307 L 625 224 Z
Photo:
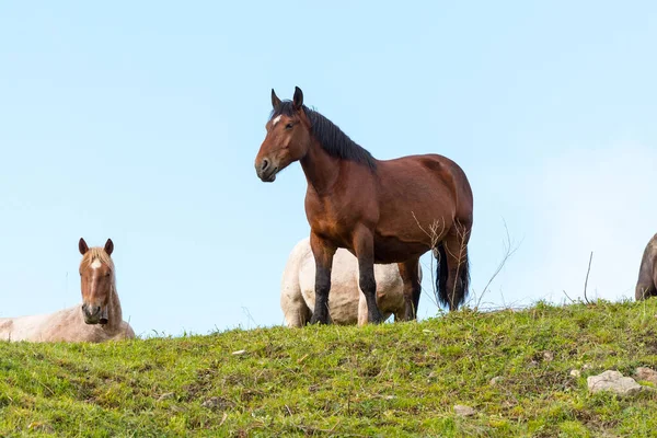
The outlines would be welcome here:
M 470 227 L 454 223 L 454 227 L 442 241 L 447 258 L 446 301 L 449 310 L 457 310 L 465 301 L 470 283 L 470 267 L 468 263 L 468 242 Z

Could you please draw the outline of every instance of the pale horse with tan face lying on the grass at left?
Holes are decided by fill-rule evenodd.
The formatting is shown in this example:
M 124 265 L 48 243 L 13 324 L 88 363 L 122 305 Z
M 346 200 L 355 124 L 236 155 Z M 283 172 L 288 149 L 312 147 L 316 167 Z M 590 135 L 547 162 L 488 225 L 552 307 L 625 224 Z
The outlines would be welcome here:
M 80 239 L 79 249 L 82 306 L 50 314 L 0 318 L 0 341 L 100 343 L 135 337 L 123 320 L 116 293 L 114 243 L 107 239 L 105 247 L 90 249 Z

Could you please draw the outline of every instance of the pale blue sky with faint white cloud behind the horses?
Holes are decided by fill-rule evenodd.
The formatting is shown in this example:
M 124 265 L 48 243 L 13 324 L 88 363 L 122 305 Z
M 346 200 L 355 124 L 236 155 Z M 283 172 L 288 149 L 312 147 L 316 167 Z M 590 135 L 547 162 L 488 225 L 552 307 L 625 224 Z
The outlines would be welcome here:
M 475 292 L 505 221 L 520 244 L 483 302 L 581 296 L 590 251 L 590 295 L 632 297 L 657 232 L 656 44 L 650 1 L 3 2 L 0 316 L 79 302 L 84 237 L 114 240 L 139 334 L 283 323 L 306 181 L 253 160 L 269 90 L 295 85 L 377 158 L 461 164 Z

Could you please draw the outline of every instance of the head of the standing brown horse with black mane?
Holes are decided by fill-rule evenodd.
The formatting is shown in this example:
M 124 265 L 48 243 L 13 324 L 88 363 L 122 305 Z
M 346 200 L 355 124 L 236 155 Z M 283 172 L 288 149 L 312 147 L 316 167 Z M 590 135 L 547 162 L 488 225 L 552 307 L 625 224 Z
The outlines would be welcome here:
M 281 102 L 272 90 L 272 116 L 265 125 L 267 136 L 255 157 L 255 172 L 265 183 L 290 163 L 302 159 L 310 147 L 310 120 L 303 106 L 303 93 L 295 88 L 292 101 Z

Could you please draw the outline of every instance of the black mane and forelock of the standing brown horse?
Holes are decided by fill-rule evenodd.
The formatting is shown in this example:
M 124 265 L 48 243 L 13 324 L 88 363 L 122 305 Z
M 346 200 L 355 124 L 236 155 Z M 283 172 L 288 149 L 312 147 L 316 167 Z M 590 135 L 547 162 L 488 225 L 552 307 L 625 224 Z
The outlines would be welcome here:
M 377 169 L 377 161 L 372 154 L 356 141 L 351 140 L 349 136 L 343 132 L 333 122 L 306 105 L 303 105 L 303 111 L 310 120 L 312 134 L 330 155 L 355 161 L 368 166 L 372 171 Z M 295 115 L 295 105 L 292 101 L 283 101 L 277 108 L 272 111 L 270 118 L 279 115 L 288 117 Z

